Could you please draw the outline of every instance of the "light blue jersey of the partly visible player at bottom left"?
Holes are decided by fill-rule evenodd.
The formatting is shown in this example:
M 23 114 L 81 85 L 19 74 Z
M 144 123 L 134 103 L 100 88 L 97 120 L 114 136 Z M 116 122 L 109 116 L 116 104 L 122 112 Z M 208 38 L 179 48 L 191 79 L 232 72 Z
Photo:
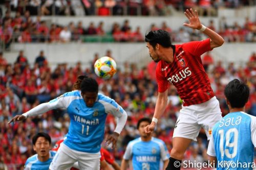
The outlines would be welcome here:
M 50 157 L 47 161 L 41 162 L 37 158 L 37 154 L 29 157 L 25 163 L 24 170 L 49 170 L 49 166 L 52 162 L 54 155 L 56 154 L 55 151 L 50 151 Z

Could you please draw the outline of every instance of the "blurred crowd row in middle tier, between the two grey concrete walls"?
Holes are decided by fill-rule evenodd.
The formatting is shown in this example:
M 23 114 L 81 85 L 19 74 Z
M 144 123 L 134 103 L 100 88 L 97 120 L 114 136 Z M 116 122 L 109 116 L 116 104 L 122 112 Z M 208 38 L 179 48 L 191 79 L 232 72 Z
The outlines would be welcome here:
M 228 25 L 226 18 L 219 20 L 219 28 L 216 28 L 214 20 L 204 23 L 208 28 L 218 32 L 226 42 L 256 42 L 256 21 L 246 17 L 243 25 L 234 22 Z M 163 22 L 160 26 L 152 23 L 148 30 L 163 29 L 172 35 L 175 42 L 187 42 L 202 40 L 203 34 L 198 30 L 191 30 L 181 27 L 179 30 L 172 30 L 168 23 Z M 70 21 L 68 25 L 62 26 L 56 23 L 47 23 L 41 20 L 40 16 L 32 19 L 30 12 L 24 15 L 16 12 L 11 16 L 10 11 L 0 18 L 0 43 L 6 50 L 10 49 L 11 42 L 141 42 L 143 36 L 140 27 L 132 28 L 128 19 L 124 19 L 122 25 L 118 22 L 112 23 L 112 28 L 104 29 L 104 22 L 95 23 L 91 21 L 87 25 L 78 21 Z

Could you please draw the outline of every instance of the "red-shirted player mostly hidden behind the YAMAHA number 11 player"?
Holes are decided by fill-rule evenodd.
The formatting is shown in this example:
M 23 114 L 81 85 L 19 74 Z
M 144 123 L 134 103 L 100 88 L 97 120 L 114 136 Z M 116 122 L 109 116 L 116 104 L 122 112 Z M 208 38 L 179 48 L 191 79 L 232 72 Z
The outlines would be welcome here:
M 62 143 L 63 140 L 64 139 L 61 139 L 61 140 L 57 141 L 52 150 L 57 152 L 58 149 L 59 149 L 60 143 Z M 100 155 L 101 155 L 101 157 L 100 157 L 100 169 L 102 169 L 102 170 L 113 170 L 113 168 L 115 170 L 120 169 L 120 166 L 115 161 L 115 158 L 109 153 L 109 151 L 101 148 L 100 149 Z M 107 162 L 109 164 L 111 164 L 113 166 L 113 168 L 111 168 L 110 165 Z M 70 170 L 79 170 L 78 168 L 79 168 L 78 162 L 75 162 L 73 167 Z

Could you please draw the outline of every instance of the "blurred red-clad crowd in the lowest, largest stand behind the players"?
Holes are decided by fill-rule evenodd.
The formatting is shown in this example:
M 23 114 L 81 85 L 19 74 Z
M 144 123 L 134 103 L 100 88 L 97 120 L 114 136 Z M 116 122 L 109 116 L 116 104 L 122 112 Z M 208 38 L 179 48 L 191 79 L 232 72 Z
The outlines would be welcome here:
M 102 80 L 94 74 L 94 62 L 98 59 L 95 54 L 91 67 L 84 68 L 80 62 L 74 67 L 68 63 L 59 63 L 54 69 L 49 67 L 47 56 L 40 51 L 35 61 L 28 61 L 23 51 L 19 52 L 15 63 L 8 63 L 0 53 L 0 169 L 4 165 L 8 169 L 23 169 L 28 157 L 34 154 L 31 138 L 37 132 L 47 132 L 52 138 L 52 144 L 63 138 L 68 132 L 70 119 L 66 110 L 56 109 L 40 116 L 27 118 L 24 122 L 8 125 L 11 117 L 25 113 L 40 103 L 48 102 L 57 96 L 71 91 L 77 76 L 86 74 L 99 83 L 99 92 L 113 98 L 129 115 L 122 131 L 116 150 L 110 150 L 117 161 L 122 159 L 127 143 L 138 137 L 136 124 L 142 117 L 152 117 L 157 99 L 157 83 L 155 78 L 156 63 L 150 62 L 142 68 L 136 63 L 117 63 L 118 71 L 109 80 Z M 106 56 L 112 56 L 111 50 Z M 227 67 L 221 61 L 215 61 L 210 53 L 202 57 L 205 70 L 208 73 L 212 89 L 220 102 L 223 116 L 228 113 L 223 93 L 225 85 L 232 79 L 247 81 L 250 87 L 250 98 L 246 104 L 246 112 L 256 116 L 256 54 L 247 56 L 245 67 L 235 67 L 229 63 Z M 34 64 L 29 65 L 28 63 Z M 174 86 L 168 88 L 168 104 L 154 136 L 162 139 L 168 150 L 172 150 L 172 135 L 182 101 Z M 108 115 L 105 135 L 114 131 L 116 120 Z M 200 131 L 198 142 L 190 145 L 186 151 L 186 160 L 204 162 L 207 139 L 204 131 Z

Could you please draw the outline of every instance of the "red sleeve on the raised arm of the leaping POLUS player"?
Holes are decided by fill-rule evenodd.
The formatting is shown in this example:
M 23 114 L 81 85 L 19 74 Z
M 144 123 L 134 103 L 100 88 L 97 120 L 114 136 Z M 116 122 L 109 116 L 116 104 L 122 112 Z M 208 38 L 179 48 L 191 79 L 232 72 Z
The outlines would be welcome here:
M 188 51 L 193 56 L 200 57 L 207 51 L 211 51 L 210 48 L 210 38 L 202 41 L 191 41 L 183 44 L 186 51 Z

